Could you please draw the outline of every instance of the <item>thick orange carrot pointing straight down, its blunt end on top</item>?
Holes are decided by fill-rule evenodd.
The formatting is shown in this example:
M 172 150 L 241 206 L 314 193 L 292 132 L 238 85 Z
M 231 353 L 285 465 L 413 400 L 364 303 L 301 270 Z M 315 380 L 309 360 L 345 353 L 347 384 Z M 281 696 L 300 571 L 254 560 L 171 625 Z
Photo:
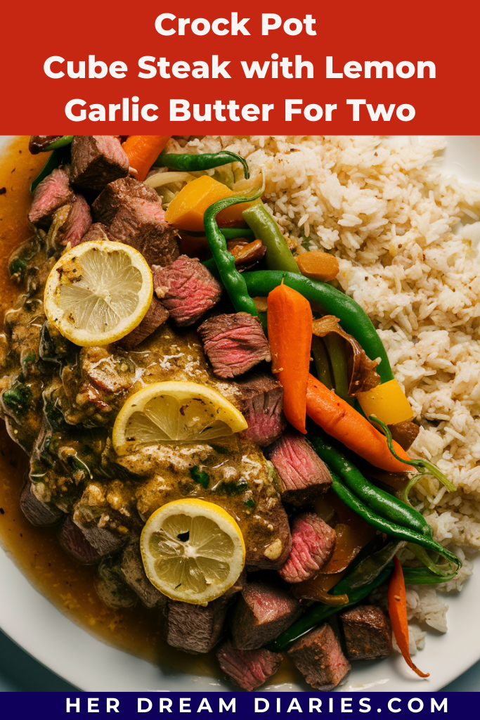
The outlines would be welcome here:
M 284 386 L 284 413 L 294 428 L 306 433 L 312 309 L 303 295 L 283 283 L 268 294 L 267 308 L 272 372 Z

